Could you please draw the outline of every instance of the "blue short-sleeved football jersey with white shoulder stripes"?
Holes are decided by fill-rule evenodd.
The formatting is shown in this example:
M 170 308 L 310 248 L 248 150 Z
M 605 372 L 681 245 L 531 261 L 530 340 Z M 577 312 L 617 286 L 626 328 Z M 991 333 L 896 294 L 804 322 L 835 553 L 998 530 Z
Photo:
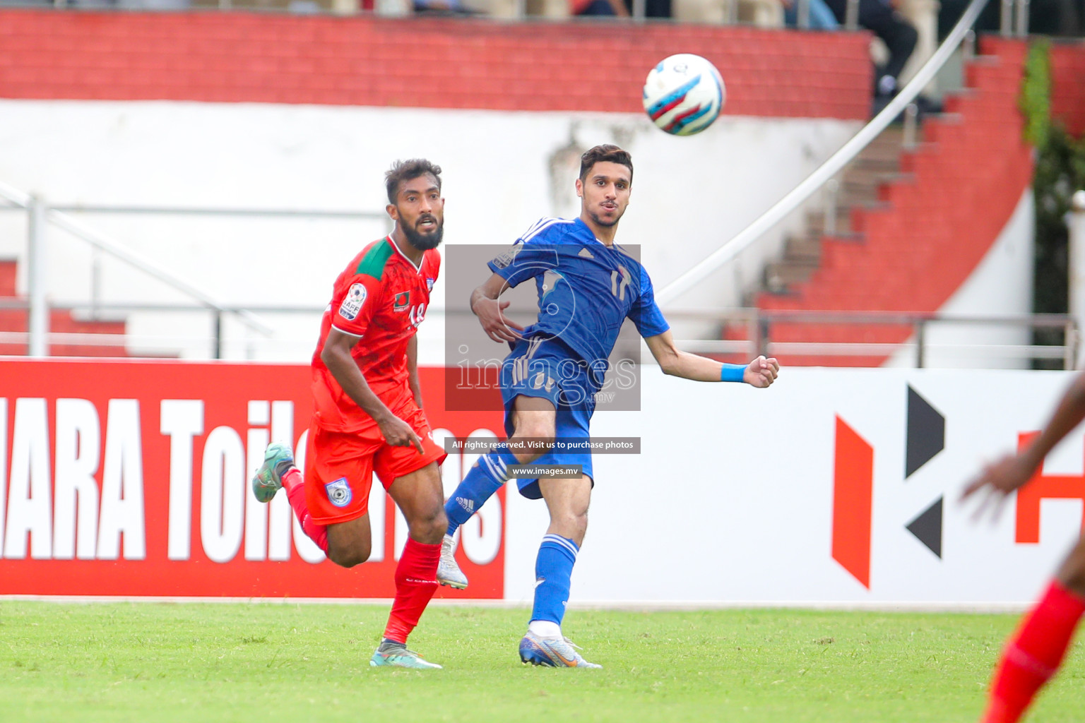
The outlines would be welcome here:
M 510 286 L 535 280 L 538 321 L 525 337 L 558 338 L 589 364 L 610 357 L 625 319 L 643 337 L 669 328 L 644 267 L 579 218 L 539 220 L 488 266 Z

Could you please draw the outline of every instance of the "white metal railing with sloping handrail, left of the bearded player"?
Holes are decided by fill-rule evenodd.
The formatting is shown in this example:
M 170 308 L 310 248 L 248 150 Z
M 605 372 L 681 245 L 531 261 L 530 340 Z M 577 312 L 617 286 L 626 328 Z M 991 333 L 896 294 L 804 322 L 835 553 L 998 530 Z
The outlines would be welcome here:
M 212 357 L 220 359 L 222 356 L 222 321 L 224 315 L 235 317 L 244 326 L 260 334 L 270 334 L 272 327 L 260 319 L 252 307 L 240 307 L 228 305 L 216 296 L 203 291 L 196 284 L 182 279 L 168 271 L 157 261 L 150 259 L 139 251 L 136 251 L 119 241 L 98 231 L 97 229 L 82 223 L 73 218 L 72 212 L 82 214 L 120 214 L 120 215 L 163 215 L 163 216 L 229 216 L 229 217 L 259 217 L 259 218 L 328 218 L 328 219 L 360 219 L 360 220 L 384 220 L 387 216 L 378 211 L 350 211 L 350 210 L 297 210 L 297 209 L 258 209 L 258 208 L 199 208 L 199 207 L 169 207 L 169 206 L 110 206 L 110 205 L 73 205 L 73 204 L 48 204 L 41 196 L 25 193 L 0 183 L 0 198 L 8 202 L 8 206 L 0 206 L 0 210 L 25 209 L 28 216 L 27 223 L 27 267 L 28 283 L 25 308 L 28 310 L 28 328 L 26 344 L 30 357 L 46 357 L 49 348 L 49 311 L 50 308 L 84 310 L 88 309 L 92 317 L 97 317 L 104 310 L 126 310 L 126 311 L 163 311 L 166 309 L 176 310 L 183 308 L 170 305 L 154 304 L 122 304 L 106 305 L 101 301 L 101 258 L 100 254 L 106 254 L 149 276 L 156 279 L 166 286 L 180 292 L 188 298 L 196 302 L 191 310 L 203 310 L 213 314 L 213 350 Z M 50 304 L 48 287 L 48 247 L 46 243 L 46 227 L 52 224 L 58 229 L 66 231 L 76 238 L 88 243 L 94 255 L 91 260 L 91 300 L 89 307 L 84 305 L 58 305 Z M 21 308 L 22 305 L 4 304 L 0 308 Z M 9 334 L 9 336 L 11 336 Z M 16 334 L 17 336 L 17 334 Z M 101 337 L 101 335 L 66 335 L 67 337 L 79 338 L 81 336 Z M 56 340 L 56 339 L 54 339 Z M 62 341 L 78 344 L 78 341 Z M 108 346 L 108 344 L 106 344 Z

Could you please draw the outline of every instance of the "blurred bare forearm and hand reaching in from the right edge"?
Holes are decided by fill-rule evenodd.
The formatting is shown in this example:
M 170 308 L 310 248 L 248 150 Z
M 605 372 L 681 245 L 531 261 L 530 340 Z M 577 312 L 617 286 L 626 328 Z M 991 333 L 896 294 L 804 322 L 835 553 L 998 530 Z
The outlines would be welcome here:
M 966 500 L 980 490 L 985 490 L 995 496 L 995 509 L 1007 494 L 1023 487 L 1039 467 L 1048 452 L 1062 441 L 1062 438 L 1073 431 L 1074 427 L 1085 419 L 1085 374 L 1078 374 L 1070 384 L 1070 388 L 1059 400 L 1051 419 L 1029 447 L 1019 454 L 1008 454 L 998 462 L 983 468 L 972 479 L 961 493 Z M 976 514 L 982 514 L 987 500 L 981 503 Z

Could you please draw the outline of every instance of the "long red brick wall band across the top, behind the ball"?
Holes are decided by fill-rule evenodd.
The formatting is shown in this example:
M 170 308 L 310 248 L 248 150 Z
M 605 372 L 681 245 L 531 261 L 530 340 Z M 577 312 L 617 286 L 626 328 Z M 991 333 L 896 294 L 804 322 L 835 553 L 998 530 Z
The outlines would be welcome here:
M 256 13 L 0 11 L 0 98 L 639 112 L 698 53 L 725 113 L 864 119 L 864 34 Z

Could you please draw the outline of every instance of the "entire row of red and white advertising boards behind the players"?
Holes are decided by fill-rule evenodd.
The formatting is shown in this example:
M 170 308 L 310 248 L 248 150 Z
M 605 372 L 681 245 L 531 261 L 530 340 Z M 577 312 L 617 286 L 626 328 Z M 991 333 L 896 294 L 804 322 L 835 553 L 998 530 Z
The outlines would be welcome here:
M 314 554 L 283 500 L 247 491 L 268 439 L 304 432 L 304 365 L 8 359 L 0 374 L 0 595 L 391 595 L 405 530 L 382 495 L 374 559 L 346 571 Z M 573 602 L 1029 601 L 1082 528 L 1083 432 L 996 524 L 973 522 L 958 496 L 1042 427 L 1070 378 L 790 369 L 757 390 L 646 369 L 641 411 L 593 421 L 597 437 L 639 437 L 641 453 L 595 459 Z M 446 412 L 439 370 L 422 382 L 438 436 L 499 428 L 493 411 Z M 446 491 L 472 462 L 449 456 Z M 442 596 L 529 601 L 545 529 L 541 502 L 502 490 L 464 528 L 471 588 Z

